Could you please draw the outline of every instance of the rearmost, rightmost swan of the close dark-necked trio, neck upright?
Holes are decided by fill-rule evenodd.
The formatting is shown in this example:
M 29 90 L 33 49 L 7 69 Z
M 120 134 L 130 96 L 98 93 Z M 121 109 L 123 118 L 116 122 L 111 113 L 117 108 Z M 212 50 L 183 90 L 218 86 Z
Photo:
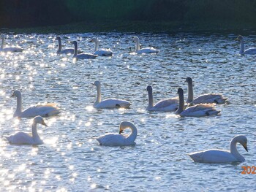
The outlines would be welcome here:
M 220 93 L 208 93 L 197 96 L 197 98 L 193 99 L 193 82 L 191 77 L 187 77 L 186 81 L 188 84 L 188 96 L 187 103 L 188 104 L 224 104 L 227 98 L 223 97 Z

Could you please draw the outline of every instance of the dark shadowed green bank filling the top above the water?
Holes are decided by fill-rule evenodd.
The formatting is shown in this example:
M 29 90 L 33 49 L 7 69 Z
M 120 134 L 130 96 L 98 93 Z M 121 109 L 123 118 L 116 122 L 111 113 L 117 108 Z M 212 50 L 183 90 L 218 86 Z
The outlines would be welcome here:
M 242 30 L 255 21 L 256 0 L 0 0 L 0 28 L 17 33 Z

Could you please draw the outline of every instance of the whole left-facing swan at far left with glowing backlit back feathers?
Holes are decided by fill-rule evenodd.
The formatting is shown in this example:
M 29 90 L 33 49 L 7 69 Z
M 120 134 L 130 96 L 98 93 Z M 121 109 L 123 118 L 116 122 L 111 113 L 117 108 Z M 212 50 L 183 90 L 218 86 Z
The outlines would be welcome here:
M 37 115 L 40 115 L 42 117 L 49 117 L 53 115 L 58 115 L 61 112 L 59 107 L 57 107 L 57 104 L 53 103 L 37 104 L 22 111 L 22 99 L 20 91 L 15 90 L 12 93 L 12 96 L 17 97 L 17 108 L 13 117 L 34 118 Z

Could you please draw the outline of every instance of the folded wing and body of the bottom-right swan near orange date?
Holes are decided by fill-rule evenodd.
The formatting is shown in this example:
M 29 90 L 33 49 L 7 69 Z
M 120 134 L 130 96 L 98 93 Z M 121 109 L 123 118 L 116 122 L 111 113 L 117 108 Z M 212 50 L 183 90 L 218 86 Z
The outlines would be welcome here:
M 188 154 L 193 161 L 208 164 L 222 164 L 238 161 L 229 151 L 226 150 L 204 150 Z

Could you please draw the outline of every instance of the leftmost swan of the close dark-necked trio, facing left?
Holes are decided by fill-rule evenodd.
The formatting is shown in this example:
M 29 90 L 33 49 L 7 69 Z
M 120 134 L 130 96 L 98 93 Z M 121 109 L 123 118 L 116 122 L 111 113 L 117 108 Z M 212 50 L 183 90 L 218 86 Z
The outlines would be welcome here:
M 178 98 L 163 99 L 154 105 L 152 87 L 148 85 L 148 111 L 173 112 L 178 109 Z

